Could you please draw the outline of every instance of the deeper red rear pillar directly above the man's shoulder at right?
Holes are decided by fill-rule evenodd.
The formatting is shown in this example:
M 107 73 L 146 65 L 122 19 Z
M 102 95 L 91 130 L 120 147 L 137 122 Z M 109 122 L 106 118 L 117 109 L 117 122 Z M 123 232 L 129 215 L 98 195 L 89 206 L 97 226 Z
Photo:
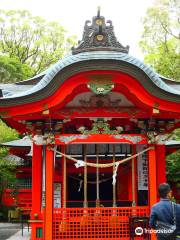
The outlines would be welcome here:
M 160 183 L 166 182 L 166 147 L 165 145 L 156 145 L 157 162 L 157 187 Z

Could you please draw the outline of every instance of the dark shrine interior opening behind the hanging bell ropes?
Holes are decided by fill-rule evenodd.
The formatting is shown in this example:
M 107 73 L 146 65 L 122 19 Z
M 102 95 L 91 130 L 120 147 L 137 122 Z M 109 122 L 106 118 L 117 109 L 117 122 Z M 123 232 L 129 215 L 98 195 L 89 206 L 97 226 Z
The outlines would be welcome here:
M 132 146 L 130 144 L 103 143 L 88 145 L 72 144 L 66 146 L 66 154 L 81 161 L 86 159 L 90 163 L 107 164 L 131 156 Z M 117 184 L 114 186 L 112 184 L 113 167 L 87 167 L 87 176 L 85 176 L 85 169 L 76 168 L 72 161 L 67 161 L 67 181 L 64 183 L 67 188 L 66 206 L 83 207 L 85 194 L 88 207 L 96 207 L 97 199 L 99 199 L 99 206 L 101 207 L 112 207 L 114 201 L 116 201 L 117 206 L 131 206 L 132 187 L 130 186 L 132 185 L 132 171 L 130 169 L 131 162 L 126 162 L 119 167 L 119 171 L 117 171 Z M 137 175 L 136 169 L 133 170 L 133 174 L 134 177 Z M 124 178 L 129 180 L 124 181 Z M 122 189 L 119 188 L 120 184 L 124 185 L 126 191 L 120 192 L 119 189 Z

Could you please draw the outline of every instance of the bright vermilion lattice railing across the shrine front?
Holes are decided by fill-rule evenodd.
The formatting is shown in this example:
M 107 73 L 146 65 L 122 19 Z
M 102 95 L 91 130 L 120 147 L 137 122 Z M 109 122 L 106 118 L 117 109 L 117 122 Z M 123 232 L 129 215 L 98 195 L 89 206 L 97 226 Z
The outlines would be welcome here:
M 131 216 L 149 216 L 149 207 L 55 209 L 53 239 L 129 240 Z

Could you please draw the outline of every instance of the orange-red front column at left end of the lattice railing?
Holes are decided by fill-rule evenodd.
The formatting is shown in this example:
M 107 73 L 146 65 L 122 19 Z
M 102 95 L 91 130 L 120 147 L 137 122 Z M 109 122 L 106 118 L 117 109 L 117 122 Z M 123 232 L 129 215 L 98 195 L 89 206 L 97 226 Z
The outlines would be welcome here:
M 46 147 L 46 187 L 45 187 L 45 237 L 44 239 L 53 239 L 53 186 L 54 182 L 54 151 Z

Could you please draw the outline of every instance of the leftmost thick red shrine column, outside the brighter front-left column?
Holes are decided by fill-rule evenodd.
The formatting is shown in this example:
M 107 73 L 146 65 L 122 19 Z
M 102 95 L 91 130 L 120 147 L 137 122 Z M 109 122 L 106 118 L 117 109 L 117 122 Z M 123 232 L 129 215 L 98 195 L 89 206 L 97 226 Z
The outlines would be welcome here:
M 41 218 L 42 146 L 33 143 L 31 220 Z M 36 223 L 32 223 L 31 239 L 36 239 Z

